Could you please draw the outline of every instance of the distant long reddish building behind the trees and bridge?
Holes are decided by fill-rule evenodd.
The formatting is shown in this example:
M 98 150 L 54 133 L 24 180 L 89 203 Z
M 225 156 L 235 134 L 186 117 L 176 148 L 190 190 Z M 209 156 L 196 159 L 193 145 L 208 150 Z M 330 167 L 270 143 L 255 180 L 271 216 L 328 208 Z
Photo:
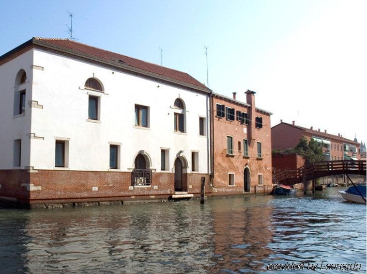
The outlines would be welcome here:
M 344 138 L 340 133 L 338 135 L 327 133 L 326 129 L 322 132 L 320 129 L 309 129 L 280 121 L 280 124 L 272 128 L 272 149 L 286 149 L 295 147 L 300 138 L 313 139 L 322 146 L 322 151 L 326 161 L 336 160 L 359 160 L 361 159 L 360 144 L 358 142 Z

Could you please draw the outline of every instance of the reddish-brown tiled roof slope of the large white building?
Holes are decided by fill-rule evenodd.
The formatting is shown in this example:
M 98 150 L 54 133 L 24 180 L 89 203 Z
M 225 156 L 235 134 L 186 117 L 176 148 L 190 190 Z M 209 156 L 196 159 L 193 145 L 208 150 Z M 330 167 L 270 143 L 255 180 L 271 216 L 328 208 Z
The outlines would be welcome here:
M 138 68 L 138 69 L 150 72 L 150 73 L 168 77 L 176 81 L 182 81 L 184 83 L 192 84 L 200 88 L 205 88 L 205 89 L 207 88 L 204 84 L 200 83 L 195 78 L 191 77 L 189 74 L 185 72 L 171 69 L 168 67 L 164 67 L 161 65 L 141 61 L 139 59 L 125 56 L 122 54 L 118 54 L 115 52 L 111 52 L 105 49 L 95 48 L 95 47 L 88 46 L 88 45 L 85 45 L 85 44 L 82 44 L 76 41 L 72 41 L 69 39 L 41 38 L 41 37 L 34 37 L 34 39 L 42 41 L 44 43 L 56 45 L 62 48 L 71 49 L 71 50 L 74 50 L 76 52 L 80 52 L 83 54 L 102 58 L 108 61 L 127 64 L 134 68 Z

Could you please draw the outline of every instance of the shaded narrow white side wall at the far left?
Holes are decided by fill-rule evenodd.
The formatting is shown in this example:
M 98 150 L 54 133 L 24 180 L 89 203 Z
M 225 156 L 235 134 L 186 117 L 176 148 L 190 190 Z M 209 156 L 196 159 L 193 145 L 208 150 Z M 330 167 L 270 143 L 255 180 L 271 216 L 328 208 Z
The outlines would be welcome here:
M 12 169 L 14 157 L 14 140 L 21 139 L 21 168 L 30 165 L 31 108 L 28 102 L 32 92 L 32 59 L 33 50 L 28 50 L 5 64 L 0 65 L 0 169 Z M 25 115 L 14 115 L 15 77 L 24 69 L 27 81 L 21 86 L 26 89 Z

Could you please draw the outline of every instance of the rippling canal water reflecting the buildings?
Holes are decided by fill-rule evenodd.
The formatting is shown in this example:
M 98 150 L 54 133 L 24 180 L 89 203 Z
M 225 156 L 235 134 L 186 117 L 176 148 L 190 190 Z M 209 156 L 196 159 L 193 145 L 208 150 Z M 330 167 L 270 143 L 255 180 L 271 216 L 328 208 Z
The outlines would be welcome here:
M 341 189 L 205 205 L 0 209 L 0 272 L 251 273 L 275 263 L 357 262 L 366 273 L 366 206 L 344 202 Z

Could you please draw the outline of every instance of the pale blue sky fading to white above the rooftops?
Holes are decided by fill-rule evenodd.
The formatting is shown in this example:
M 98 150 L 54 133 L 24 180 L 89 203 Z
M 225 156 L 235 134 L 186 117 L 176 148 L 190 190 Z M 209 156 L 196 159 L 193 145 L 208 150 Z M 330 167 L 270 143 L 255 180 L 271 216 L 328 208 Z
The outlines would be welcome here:
M 33 36 L 78 42 L 189 73 L 280 119 L 367 141 L 366 0 L 0 0 L 0 55 Z

